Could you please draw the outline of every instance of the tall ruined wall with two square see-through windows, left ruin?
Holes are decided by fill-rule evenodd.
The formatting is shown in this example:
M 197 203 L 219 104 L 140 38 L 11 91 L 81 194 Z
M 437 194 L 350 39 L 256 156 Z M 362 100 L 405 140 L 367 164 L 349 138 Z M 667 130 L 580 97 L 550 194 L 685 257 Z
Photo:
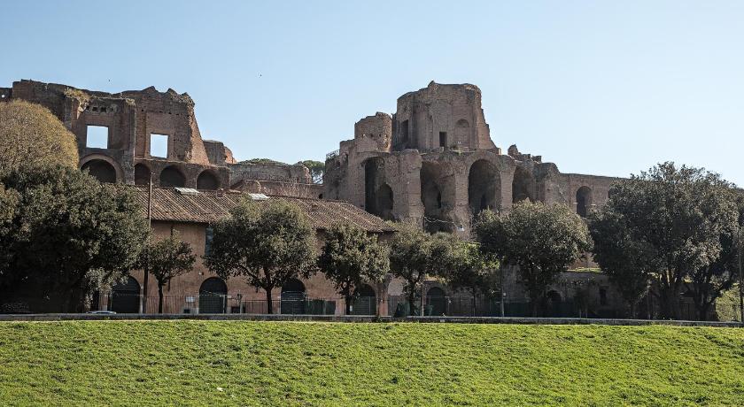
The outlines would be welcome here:
M 221 158 L 210 161 L 201 139 L 194 102 L 173 89 L 159 92 L 153 87 L 117 94 L 73 88 L 38 81 L 13 82 L 4 94 L 42 104 L 75 134 L 82 169 L 108 182 L 148 183 L 156 186 L 175 174 L 181 187 L 228 188 L 225 166 L 232 153 L 222 147 Z M 106 127 L 105 146 L 92 147 L 89 127 Z M 166 157 L 151 155 L 151 134 L 167 136 Z M 221 144 L 221 143 L 219 143 Z M 210 145 L 213 157 L 219 146 Z M 166 174 L 167 175 L 167 174 Z M 162 184 L 165 185 L 165 184 Z

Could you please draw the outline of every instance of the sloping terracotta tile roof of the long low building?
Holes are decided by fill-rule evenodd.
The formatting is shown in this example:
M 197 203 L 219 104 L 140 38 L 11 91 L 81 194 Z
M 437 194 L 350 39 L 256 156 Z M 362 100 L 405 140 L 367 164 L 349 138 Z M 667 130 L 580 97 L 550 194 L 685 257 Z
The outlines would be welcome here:
M 133 187 L 143 211 L 147 211 L 148 188 Z M 196 195 L 182 194 L 174 188 L 152 188 L 152 219 L 176 222 L 211 223 L 229 215 L 229 210 L 240 203 L 242 196 L 236 191 L 218 193 L 199 191 Z M 269 196 L 297 204 L 316 229 L 327 229 L 334 223 L 349 222 L 368 232 L 392 232 L 395 229 L 383 219 L 357 208 L 345 201 Z M 261 201 L 256 201 L 260 203 Z

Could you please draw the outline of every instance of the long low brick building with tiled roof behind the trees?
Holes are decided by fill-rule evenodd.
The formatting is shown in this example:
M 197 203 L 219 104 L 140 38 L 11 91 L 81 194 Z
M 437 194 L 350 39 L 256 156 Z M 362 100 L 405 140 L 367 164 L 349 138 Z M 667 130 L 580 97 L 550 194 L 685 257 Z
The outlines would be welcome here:
M 318 249 L 324 242 L 325 231 L 335 223 L 352 224 L 370 234 L 378 235 L 381 240 L 390 238 L 395 230 L 383 219 L 343 201 L 192 188 L 152 188 L 150 193 L 149 188 L 133 188 L 143 211 L 151 208 L 151 227 L 155 237 L 162 238 L 177 232 L 183 242 L 190 244 L 198 257 L 190 273 L 174 278 L 165 288 L 163 311 L 167 313 L 266 311 L 266 296 L 262 290 L 248 285 L 244 278 L 222 280 L 204 265 L 203 256 L 209 250 L 212 237 L 210 224 L 229 216 L 230 209 L 239 204 L 241 199 L 253 199 L 259 204 L 266 200 L 281 199 L 296 204 L 316 231 Z M 372 304 L 376 304 L 372 307 L 372 304 L 365 303 L 364 313 L 387 312 L 389 282 L 390 279 L 381 284 L 370 283 L 362 288 L 364 301 L 369 302 L 369 298 L 375 298 Z M 145 295 L 143 284 L 142 271 L 131 273 L 127 282 L 115 286 L 111 293 L 99 298 L 96 308 L 117 312 L 158 311 L 158 286 L 152 278 L 148 282 L 144 310 L 141 309 L 140 298 Z M 274 307 L 275 310 L 282 311 L 283 305 L 284 312 L 292 313 L 343 313 L 345 309 L 333 284 L 322 273 L 315 274 L 309 280 L 293 280 L 288 286 L 276 290 L 275 302 L 278 305 Z M 287 310 L 289 306 L 293 308 Z M 318 307 L 318 310 L 308 309 L 311 306 Z

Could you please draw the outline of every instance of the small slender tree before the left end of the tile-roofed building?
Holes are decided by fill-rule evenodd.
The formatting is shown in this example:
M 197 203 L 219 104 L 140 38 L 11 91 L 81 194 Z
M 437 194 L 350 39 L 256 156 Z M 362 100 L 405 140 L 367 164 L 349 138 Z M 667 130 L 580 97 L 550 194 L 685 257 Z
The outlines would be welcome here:
M 140 253 L 138 268 L 151 273 L 158 281 L 158 312 L 163 313 L 163 287 L 174 277 L 189 273 L 197 257 L 191 245 L 182 242 L 177 233 L 159 241 L 150 241 Z

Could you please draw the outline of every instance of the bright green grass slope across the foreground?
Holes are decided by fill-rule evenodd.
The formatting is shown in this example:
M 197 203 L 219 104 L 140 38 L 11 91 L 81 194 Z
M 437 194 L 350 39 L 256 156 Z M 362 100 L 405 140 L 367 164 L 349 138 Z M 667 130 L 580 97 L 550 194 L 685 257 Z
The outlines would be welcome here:
M 0 405 L 744 405 L 744 329 L 0 323 Z

